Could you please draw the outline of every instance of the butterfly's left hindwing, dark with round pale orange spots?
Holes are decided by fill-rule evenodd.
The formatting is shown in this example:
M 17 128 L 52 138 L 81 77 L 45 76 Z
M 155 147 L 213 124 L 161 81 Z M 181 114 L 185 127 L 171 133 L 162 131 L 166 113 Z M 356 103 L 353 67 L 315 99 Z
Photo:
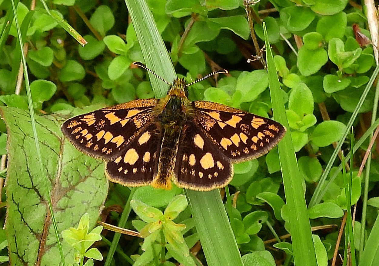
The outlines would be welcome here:
M 156 124 L 150 124 L 106 162 L 105 172 L 112 182 L 124 186 L 149 185 L 158 171 L 162 136 Z

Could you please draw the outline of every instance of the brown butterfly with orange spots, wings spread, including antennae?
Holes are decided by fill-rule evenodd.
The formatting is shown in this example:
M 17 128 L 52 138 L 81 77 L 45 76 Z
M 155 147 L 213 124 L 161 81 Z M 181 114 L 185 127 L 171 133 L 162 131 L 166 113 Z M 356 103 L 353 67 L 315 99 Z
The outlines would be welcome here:
M 156 77 L 144 64 L 135 62 Z M 266 154 L 283 138 L 278 122 L 220 103 L 188 100 L 176 78 L 162 99 L 139 99 L 72 117 L 61 129 L 81 152 L 106 161 L 105 173 L 125 186 L 210 191 L 229 184 L 233 163 Z

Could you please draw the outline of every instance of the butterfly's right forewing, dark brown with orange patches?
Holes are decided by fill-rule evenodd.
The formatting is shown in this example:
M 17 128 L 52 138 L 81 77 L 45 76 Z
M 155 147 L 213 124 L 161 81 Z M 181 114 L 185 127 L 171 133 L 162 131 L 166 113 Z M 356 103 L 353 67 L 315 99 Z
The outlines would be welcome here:
M 219 103 L 192 102 L 194 119 L 231 162 L 258 158 L 282 139 L 286 128 L 274 120 Z

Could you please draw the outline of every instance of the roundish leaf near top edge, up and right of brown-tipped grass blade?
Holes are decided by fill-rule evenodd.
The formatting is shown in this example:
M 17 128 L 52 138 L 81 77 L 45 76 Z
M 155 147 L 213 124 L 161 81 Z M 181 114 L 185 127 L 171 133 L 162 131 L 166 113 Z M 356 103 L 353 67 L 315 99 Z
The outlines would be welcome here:
M 101 36 L 105 36 L 105 33 L 114 25 L 113 13 L 108 6 L 99 6 L 92 14 L 89 22 Z

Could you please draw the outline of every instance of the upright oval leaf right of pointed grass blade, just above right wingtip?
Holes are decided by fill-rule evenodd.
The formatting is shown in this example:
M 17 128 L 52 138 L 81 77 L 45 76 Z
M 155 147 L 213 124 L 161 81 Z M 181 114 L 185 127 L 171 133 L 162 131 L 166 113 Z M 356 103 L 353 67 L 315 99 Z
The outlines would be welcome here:
M 299 83 L 292 89 L 288 99 L 288 108 L 303 117 L 305 114 L 313 114 L 313 95 L 305 83 Z

